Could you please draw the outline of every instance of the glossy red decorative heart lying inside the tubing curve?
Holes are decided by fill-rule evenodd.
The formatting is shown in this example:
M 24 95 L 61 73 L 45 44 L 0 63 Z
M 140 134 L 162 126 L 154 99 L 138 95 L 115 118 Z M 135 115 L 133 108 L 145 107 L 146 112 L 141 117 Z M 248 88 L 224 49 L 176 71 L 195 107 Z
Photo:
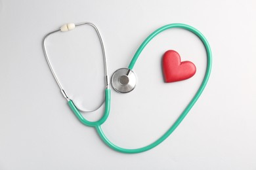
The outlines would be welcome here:
M 163 75 L 165 82 L 186 80 L 196 73 L 196 66 L 191 61 L 182 61 L 178 52 L 168 50 L 163 55 Z

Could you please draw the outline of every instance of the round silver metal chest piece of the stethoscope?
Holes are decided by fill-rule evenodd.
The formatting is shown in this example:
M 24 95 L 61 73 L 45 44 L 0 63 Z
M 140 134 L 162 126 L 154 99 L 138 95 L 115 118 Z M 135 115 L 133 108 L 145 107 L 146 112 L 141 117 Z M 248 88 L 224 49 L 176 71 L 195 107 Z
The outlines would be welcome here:
M 137 83 L 137 78 L 135 73 L 130 69 L 118 69 L 112 76 L 111 80 L 114 90 L 119 93 L 129 93 L 131 92 Z

